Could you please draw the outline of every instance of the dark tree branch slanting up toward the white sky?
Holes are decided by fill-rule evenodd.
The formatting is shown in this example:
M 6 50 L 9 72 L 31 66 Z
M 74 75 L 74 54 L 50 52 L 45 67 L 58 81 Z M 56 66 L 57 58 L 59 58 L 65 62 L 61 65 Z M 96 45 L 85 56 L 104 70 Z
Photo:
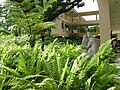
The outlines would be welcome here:
M 75 6 L 80 5 L 81 1 L 82 0 L 74 0 L 74 1 L 67 2 L 66 0 L 66 2 L 63 2 L 63 0 L 57 0 L 56 2 L 57 7 L 53 6 L 51 8 L 51 11 L 52 11 L 51 13 L 50 13 L 50 9 L 46 11 L 46 14 L 44 14 L 45 16 L 44 21 L 53 21 L 60 14 L 66 13 L 70 11 L 72 8 L 74 8 Z

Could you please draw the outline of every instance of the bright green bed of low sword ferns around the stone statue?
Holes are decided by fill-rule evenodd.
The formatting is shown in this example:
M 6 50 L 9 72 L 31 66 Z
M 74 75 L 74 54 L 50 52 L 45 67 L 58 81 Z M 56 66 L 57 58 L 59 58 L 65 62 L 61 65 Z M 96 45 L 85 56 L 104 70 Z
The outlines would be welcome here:
M 95 56 L 81 54 L 79 46 L 66 42 L 40 45 L 0 45 L 0 88 L 2 90 L 102 90 L 118 88 L 116 66 L 109 63 L 110 41 Z M 112 58 L 114 59 L 114 58 Z

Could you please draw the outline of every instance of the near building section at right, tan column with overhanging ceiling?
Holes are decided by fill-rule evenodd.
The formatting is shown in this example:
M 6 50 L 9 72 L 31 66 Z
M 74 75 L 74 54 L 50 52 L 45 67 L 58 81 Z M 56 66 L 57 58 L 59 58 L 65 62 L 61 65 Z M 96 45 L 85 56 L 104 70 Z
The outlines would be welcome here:
M 109 40 L 112 33 L 120 40 L 120 0 L 97 0 L 100 17 L 101 43 Z

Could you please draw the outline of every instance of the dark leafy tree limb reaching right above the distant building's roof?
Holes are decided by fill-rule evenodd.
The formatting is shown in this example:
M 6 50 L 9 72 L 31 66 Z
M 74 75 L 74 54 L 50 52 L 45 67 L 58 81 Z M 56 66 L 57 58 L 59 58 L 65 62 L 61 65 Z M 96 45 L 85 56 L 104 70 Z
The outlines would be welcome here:
M 49 7 L 44 13 L 44 21 L 52 21 L 61 13 L 66 13 L 75 6 L 79 8 L 83 5 L 82 0 L 54 0 L 52 7 Z

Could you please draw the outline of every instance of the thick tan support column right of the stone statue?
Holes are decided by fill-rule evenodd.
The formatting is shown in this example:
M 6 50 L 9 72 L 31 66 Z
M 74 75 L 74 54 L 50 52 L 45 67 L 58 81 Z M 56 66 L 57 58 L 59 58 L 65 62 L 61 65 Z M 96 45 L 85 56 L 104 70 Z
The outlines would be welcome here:
M 100 40 L 101 43 L 111 38 L 110 33 L 110 16 L 109 16 L 109 0 L 97 0 L 99 6 L 100 17 Z

